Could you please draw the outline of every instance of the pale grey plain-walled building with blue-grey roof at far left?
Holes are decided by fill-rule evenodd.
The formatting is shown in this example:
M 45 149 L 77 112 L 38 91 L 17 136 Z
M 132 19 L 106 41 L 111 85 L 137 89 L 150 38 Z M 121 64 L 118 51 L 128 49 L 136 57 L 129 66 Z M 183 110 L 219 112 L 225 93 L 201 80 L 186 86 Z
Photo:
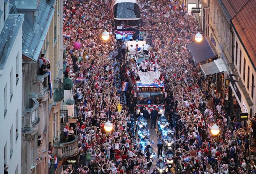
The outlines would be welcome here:
M 0 165 L 21 174 L 21 32 L 23 14 L 9 14 L 9 1 L 0 0 Z

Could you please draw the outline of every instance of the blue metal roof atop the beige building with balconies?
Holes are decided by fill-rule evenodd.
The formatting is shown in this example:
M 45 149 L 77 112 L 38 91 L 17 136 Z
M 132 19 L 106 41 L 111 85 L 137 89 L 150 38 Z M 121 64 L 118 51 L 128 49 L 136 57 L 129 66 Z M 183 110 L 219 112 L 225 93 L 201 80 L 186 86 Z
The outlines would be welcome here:
M 25 0 L 25 2 L 30 1 Z M 34 26 L 31 26 L 26 19 L 22 25 L 22 54 L 33 61 L 37 61 L 40 56 L 55 11 L 53 8 L 55 3 L 56 0 L 39 0 L 38 16 L 35 17 Z

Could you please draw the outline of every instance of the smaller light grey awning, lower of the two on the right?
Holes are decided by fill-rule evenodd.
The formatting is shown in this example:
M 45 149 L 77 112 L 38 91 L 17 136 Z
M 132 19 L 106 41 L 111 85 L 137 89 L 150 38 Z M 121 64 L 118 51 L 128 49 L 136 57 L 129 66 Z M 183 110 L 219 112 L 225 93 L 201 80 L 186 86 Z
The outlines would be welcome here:
M 200 65 L 200 68 L 203 71 L 204 76 L 227 71 L 227 68 L 222 59 L 217 59 L 210 63 L 202 64 Z

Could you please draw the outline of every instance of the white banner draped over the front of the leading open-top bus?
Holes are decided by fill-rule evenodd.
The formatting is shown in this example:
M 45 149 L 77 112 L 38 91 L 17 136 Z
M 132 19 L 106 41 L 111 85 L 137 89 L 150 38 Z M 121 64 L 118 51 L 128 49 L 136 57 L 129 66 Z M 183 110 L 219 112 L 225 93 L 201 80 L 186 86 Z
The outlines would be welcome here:
M 147 71 L 142 72 L 138 71 L 139 79 L 141 80 L 141 84 L 153 84 L 155 82 L 155 79 L 159 79 L 160 77 L 160 71 Z

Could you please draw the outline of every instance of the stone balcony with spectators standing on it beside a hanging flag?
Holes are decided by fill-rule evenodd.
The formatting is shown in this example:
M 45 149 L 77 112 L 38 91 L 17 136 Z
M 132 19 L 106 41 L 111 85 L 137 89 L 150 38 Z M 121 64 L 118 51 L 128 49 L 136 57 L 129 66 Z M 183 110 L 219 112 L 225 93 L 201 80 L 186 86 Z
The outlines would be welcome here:
M 33 91 L 35 91 L 39 97 L 43 97 L 49 92 L 48 77 L 49 74 L 45 73 L 42 76 L 36 76 L 36 80 L 33 82 Z

